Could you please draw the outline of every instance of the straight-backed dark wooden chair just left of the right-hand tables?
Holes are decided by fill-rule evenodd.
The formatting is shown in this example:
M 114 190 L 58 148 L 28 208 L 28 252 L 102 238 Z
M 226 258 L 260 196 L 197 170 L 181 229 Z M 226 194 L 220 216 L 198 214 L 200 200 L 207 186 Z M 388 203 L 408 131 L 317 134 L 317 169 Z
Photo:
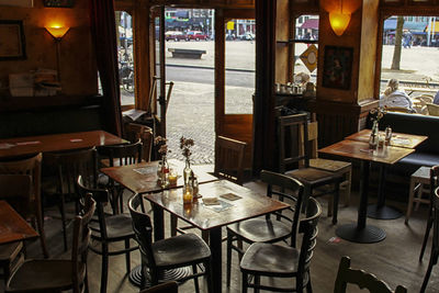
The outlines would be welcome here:
M 333 194 L 333 224 L 336 224 L 339 189 L 344 178 L 337 172 L 309 167 L 309 145 L 304 143 L 308 142 L 307 125 L 306 113 L 279 117 L 279 170 L 305 187 L 303 209 L 309 196 Z

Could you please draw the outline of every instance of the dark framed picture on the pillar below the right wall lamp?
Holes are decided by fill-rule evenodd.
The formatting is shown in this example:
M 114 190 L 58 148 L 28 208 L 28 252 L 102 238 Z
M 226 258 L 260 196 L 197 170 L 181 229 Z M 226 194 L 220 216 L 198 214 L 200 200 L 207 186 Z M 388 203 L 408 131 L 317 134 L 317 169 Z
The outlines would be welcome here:
M 353 48 L 325 46 L 323 87 L 350 90 Z

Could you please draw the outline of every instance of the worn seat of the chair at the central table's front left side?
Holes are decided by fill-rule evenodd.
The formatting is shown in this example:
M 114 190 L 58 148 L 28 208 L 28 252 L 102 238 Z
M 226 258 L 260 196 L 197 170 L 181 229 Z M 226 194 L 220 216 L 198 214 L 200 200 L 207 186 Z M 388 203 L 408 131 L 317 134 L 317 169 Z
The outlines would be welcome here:
M 157 267 L 181 267 L 210 258 L 209 246 L 194 234 L 183 234 L 153 244 Z

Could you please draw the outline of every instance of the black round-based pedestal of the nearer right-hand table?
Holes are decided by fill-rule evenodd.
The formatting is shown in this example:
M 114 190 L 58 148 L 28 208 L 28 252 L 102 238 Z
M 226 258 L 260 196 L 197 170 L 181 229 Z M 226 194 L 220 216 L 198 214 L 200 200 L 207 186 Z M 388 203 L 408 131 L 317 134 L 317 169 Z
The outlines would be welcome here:
M 361 161 L 360 205 L 358 207 L 357 224 L 340 225 L 336 229 L 337 236 L 352 243 L 372 244 L 379 243 L 385 238 L 384 230 L 375 226 L 365 225 L 368 213 L 369 169 L 370 162 Z

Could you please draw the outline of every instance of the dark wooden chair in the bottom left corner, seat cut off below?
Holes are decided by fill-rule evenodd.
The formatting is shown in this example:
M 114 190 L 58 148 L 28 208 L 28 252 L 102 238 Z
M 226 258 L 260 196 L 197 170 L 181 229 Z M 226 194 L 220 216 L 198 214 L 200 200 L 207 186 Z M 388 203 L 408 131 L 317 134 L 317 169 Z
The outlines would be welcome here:
M 5 292 L 88 292 L 87 252 L 91 234 L 88 224 L 94 209 L 94 201 L 87 196 L 82 216 L 75 217 L 71 259 L 26 260 L 8 280 Z

